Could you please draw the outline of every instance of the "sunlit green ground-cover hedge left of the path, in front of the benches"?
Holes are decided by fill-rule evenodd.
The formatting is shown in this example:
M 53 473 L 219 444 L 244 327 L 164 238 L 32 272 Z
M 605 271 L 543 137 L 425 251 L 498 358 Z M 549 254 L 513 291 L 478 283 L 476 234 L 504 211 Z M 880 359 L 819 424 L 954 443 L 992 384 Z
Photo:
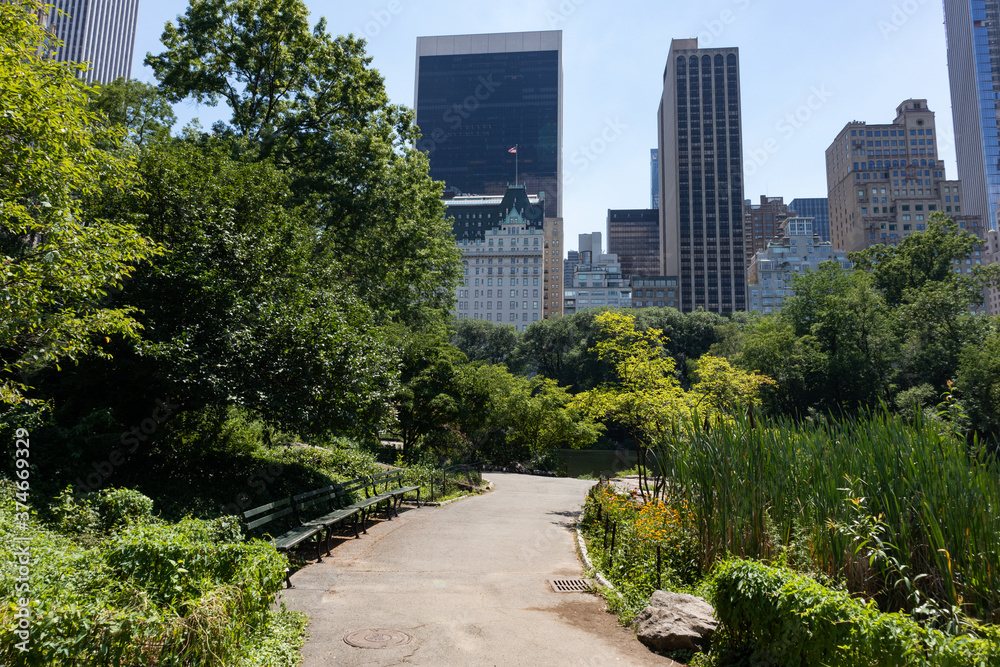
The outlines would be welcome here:
M 242 665 L 275 628 L 301 629 L 272 611 L 287 560 L 267 543 L 244 542 L 229 517 L 164 523 L 140 494 L 109 491 L 92 505 L 62 497 L 57 526 L 86 516 L 84 524 L 107 527 L 81 534 L 73 521 L 66 534 L 35 516 L 20 528 L 12 500 L 0 483 L 2 665 Z M 15 589 L 15 537 L 30 539 L 28 593 Z M 16 648 L 22 598 L 30 599 L 27 652 Z

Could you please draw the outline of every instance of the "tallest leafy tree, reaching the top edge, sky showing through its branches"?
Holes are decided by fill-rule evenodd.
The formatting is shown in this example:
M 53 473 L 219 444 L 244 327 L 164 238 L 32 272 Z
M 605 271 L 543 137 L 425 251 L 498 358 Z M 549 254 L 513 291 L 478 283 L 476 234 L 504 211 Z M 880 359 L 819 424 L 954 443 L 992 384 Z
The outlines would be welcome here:
M 161 89 L 232 111 L 218 132 L 292 175 L 344 277 L 381 321 L 451 311 L 459 254 L 413 113 L 389 104 L 364 41 L 311 30 L 302 0 L 191 0 L 149 54 Z

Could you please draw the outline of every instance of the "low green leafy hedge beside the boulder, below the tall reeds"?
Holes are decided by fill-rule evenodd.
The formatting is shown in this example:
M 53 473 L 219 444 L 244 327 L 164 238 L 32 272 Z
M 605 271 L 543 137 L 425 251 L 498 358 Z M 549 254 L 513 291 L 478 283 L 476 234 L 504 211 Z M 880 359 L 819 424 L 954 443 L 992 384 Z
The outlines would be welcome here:
M 821 586 L 791 570 L 734 560 L 714 574 L 723 650 L 752 664 L 813 667 L 989 667 L 1000 665 L 1000 633 L 949 636 L 904 614 Z

